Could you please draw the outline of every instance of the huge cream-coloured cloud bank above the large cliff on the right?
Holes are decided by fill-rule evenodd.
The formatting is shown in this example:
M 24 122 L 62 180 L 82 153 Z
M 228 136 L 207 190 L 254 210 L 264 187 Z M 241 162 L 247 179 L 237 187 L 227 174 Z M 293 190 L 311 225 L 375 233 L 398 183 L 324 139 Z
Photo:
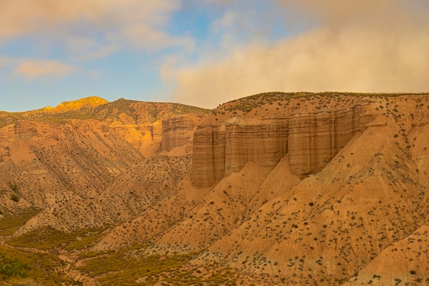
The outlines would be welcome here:
M 195 64 L 164 67 L 164 79 L 175 84 L 175 101 L 209 108 L 265 91 L 427 92 L 428 6 L 417 0 L 279 0 L 278 9 L 293 11 L 286 28 L 297 19 L 315 27 L 292 38 L 234 43 L 220 61 L 210 61 L 219 58 L 211 51 Z

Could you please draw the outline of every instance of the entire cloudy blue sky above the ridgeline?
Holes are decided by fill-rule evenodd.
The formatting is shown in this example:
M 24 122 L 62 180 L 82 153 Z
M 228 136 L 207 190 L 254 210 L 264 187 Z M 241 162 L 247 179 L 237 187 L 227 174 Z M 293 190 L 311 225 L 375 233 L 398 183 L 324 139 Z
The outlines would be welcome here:
M 0 0 L 0 110 L 429 92 L 428 0 Z

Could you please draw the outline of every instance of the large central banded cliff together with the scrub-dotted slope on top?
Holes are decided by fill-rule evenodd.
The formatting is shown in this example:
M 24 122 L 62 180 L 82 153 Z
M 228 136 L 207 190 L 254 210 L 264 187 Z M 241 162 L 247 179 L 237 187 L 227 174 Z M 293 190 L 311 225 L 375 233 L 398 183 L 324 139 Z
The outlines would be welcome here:
M 274 167 L 286 154 L 291 174 L 304 178 L 321 171 L 372 118 L 370 97 L 342 100 L 334 108 L 330 97 L 317 96 L 305 106 L 302 99 L 279 97 L 276 105 L 243 104 L 247 110 L 239 102 L 219 107 L 195 131 L 193 184 L 209 187 L 247 162 Z

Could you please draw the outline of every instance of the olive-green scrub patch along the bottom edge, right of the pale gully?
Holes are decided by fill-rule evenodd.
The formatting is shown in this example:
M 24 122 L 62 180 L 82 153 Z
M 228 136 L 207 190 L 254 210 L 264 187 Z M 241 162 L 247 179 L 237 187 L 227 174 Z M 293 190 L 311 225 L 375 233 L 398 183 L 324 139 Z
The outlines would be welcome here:
M 119 250 L 88 259 L 79 271 L 97 278 L 101 285 L 155 285 L 160 281 L 167 285 L 236 285 L 235 274 L 230 270 L 202 277 L 198 274 L 201 271 L 188 265 L 196 256 L 197 253 L 138 257 L 134 252 Z

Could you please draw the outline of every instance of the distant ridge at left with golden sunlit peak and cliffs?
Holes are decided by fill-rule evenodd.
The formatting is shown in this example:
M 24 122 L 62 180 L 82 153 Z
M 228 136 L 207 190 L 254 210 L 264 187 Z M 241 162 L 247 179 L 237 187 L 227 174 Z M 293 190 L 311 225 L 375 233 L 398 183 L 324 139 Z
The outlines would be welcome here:
M 0 137 L 8 140 L 29 139 L 35 135 L 32 124 L 29 123 L 31 121 L 65 124 L 72 119 L 95 119 L 103 123 L 105 130 L 113 128 L 146 158 L 162 151 L 169 152 L 175 147 L 183 147 L 184 151 L 181 153 L 190 154 L 193 129 L 208 112 L 209 110 L 184 104 L 127 99 L 108 102 L 100 97 L 86 97 L 62 102 L 53 108 L 0 112 L 0 128 L 8 126 L 0 131 Z

